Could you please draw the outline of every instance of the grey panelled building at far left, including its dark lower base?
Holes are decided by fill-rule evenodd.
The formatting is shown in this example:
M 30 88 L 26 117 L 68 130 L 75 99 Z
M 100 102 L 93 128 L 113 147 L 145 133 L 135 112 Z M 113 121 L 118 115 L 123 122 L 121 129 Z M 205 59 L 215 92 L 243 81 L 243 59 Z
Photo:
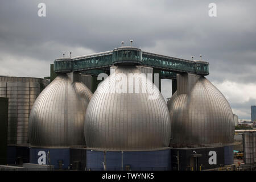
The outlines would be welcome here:
M 0 97 L 8 98 L 7 164 L 29 162 L 28 118 L 44 87 L 42 78 L 0 77 Z

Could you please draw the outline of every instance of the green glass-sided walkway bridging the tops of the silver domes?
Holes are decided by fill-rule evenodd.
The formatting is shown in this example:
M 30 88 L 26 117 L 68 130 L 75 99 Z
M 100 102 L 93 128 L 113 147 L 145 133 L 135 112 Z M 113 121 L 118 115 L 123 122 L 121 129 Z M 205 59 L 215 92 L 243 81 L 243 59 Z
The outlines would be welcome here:
M 161 90 L 160 80 L 163 78 L 176 80 L 176 73 L 209 75 L 209 63 L 206 61 L 179 59 L 144 52 L 132 46 L 123 46 L 115 48 L 113 51 L 56 59 L 54 61 L 54 68 L 51 64 L 51 80 L 56 77 L 56 73 L 80 72 L 85 75 L 92 75 L 92 92 L 94 92 L 98 82 L 100 82 L 94 76 L 97 76 L 99 73 L 109 74 L 110 67 L 118 64 L 135 64 L 153 68 L 153 73 L 159 73 L 159 90 Z

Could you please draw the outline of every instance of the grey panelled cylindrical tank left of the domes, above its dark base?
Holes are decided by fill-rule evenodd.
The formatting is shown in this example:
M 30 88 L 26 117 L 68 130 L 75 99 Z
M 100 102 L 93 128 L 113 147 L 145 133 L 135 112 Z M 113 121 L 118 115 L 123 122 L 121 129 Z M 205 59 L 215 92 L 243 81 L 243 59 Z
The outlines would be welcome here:
M 28 144 L 28 117 L 43 88 L 42 78 L 0 77 L 0 97 L 9 98 L 8 144 Z

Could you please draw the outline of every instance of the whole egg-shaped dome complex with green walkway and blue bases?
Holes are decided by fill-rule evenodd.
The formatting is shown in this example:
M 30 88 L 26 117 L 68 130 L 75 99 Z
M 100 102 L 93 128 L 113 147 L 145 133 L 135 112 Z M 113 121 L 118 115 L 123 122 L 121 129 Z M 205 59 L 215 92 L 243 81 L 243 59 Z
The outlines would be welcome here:
M 233 164 L 234 116 L 207 75 L 206 61 L 133 46 L 56 59 L 28 113 L 29 163 L 82 170 Z M 172 80 L 168 105 L 154 85 L 163 78 Z

